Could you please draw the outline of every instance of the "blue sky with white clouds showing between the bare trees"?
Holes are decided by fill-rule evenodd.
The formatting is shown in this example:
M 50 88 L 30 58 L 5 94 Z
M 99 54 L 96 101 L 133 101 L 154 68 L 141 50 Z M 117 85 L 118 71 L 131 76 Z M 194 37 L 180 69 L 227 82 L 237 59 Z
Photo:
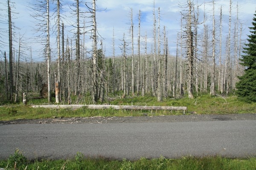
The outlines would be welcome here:
M 6 0 L 7 1 L 7 0 Z M 35 0 L 11 0 L 14 2 L 14 7 L 12 7 L 12 12 L 14 17 L 12 22 L 15 26 L 20 29 L 15 29 L 16 39 L 21 35 L 22 40 L 25 42 L 27 47 L 31 47 L 32 58 L 34 60 L 40 60 L 44 58 L 42 48 L 44 45 L 35 39 L 38 33 L 33 31 L 35 27 L 35 19 L 30 15 L 33 10 L 29 8 L 29 3 L 35 3 Z M 50 0 L 52 1 L 52 0 Z M 90 0 L 81 0 L 81 11 L 87 11 L 83 2 L 90 2 Z M 158 22 L 158 8 L 160 8 L 160 32 L 161 37 L 163 37 L 163 27 L 166 27 L 166 37 L 168 37 L 169 53 L 171 55 L 176 55 L 176 42 L 177 34 L 180 32 L 180 8 L 181 4 L 186 3 L 187 0 L 155 0 L 155 14 Z M 207 16 L 206 23 L 212 24 L 212 3 L 210 0 L 194 0 L 196 4 L 198 2 L 199 6 L 199 22 L 203 22 L 204 8 L 205 14 Z M 205 6 L 204 6 L 204 2 Z M 62 21 L 65 25 L 65 38 L 67 36 L 74 37 L 74 27 L 70 24 L 74 24 L 76 16 L 73 15 L 71 4 L 76 3 L 75 0 L 62 0 L 63 11 L 61 13 L 65 16 Z M 236 20 L 236 6 L 239 6 L 239 20 L 243 24 L 242 39 L 246 40 L 247 35 L 250 34 L 248 27 L 252 26 L 251 22 L 256 11 L 255 0 L 232 0 L 232 22 Z M 102 40 L 103 49 L 105 51 L 106 57 L 111 57 L 113 55 L 113 30 L 114 30 L 114 44 L 115 44 L 115 56 L 120 56 L 122 51 L 120 50 L 120 45 L 122 45 L 123 34 L 125 34 L 125 40 L 131 42 L 131 8 L 133 11 L 133 23 L 134 23 L 134 53 L 137 54 L 137 37 L 138 37 L 138 13 L 141 11 L 141 24 L 140 24 L 140 35 L 141 35 L 141 53 L 144 53 L 144 37 L 147 34 L 148 52 L 151 52 L 151 46 L 153 43 L 153 10 L 154 10 L 154 0 L 96 0 L 96 22 L 99 41 Z M 215 20 L 218 20 L 220 14 L 220 7 L 222 6 L 223 12 L 223 36 L 228 33 L 228 22 L 229 22 L 229 0 L 215 0 Z M 54 15 L 55 9 L 53 9 L 52 3 L 50 3 L 50 12 Z M 8 30 L 8 24 L 3 21 L 7 20 L 5 16 L 7 14 L 6 6 L 0 3 L 0 31 L 2 31 L 1 37 L 3 41 L 8 42 L 8 35 L 4 30 Z M 88 18 L 80 17 L 80 20 L 90 20 Z M 55 19 L 51 19 L 51 28 L 54 28 Z M 83 25 L 82 22 L 80 22 Z M 87 23 L 87 25 L 90 25 Z M 216 22 L 216 27 L 219 25 Z M 158 26 L 158 23 L 157 23 Z M 202 27 L 201 24 L 200 27 Z M 231 26 L 233 28 L 233 26 Z M 90 28 L 88 28 L 90 29 Z M 199 32 L 200 34 L 200 32 Z M 92 45 L 92 40 L 87 34 L 85 37 L 85 45 L 90 49 Z M 83 38 L 82 35 L 80 37 Z M 51 48 L 56 48 L 56 34 L 51 34 L 50 37 Z M 98 43 L 98 48 L 100 42 Z M 18 48 L 17 42 L 14 42 L 15 48 Z M 8 46 L 0 46 L 3 51 L 9 51 Z M 24 55 L 28 55 L 30 58 L 29 48 L 24 50 Z M 131 43 L 129 47 L 131 48 Z M 54 51 L 54 50 L 53 50 Z M 8 53 L 8 52 L 7 52 Z M 53 52 L 54 53 L 54 52 Z M 131 50 L 128 50 L 128 54 Z M 56 54 L 52 54 L 52 59 L 56 59 Z M 0 55 L 0 60 L 3 59 L 3 54 Z

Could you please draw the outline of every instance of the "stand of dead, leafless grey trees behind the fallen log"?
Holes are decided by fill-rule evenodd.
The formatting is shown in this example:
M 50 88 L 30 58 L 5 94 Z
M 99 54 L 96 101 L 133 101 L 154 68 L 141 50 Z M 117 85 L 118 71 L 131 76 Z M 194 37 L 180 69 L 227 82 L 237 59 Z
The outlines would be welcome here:
M 166 27 L 161 25 L 161 9 L 152 6 L 152 32 L 140 32 L 141 11 L 129 12 L 121 40 L 113 28 L 113 54 L 105 56 L 104 35 L 97 31 L 97 1 L 35 0 L 29 4 L 35 18 L 35 34 L 40 41 L 41 61 L 34 59 L 32 47 L 26 45 L 25 35 L 18 34 L 12 20 L 15 3 L 7 0 L 2 16 L 8 20 L 6 30 L 0 29 L 0 97 L 3 101 L 20 102 L 22 94 L 48 98 L 48 102 L 77 104 L 90 96 L 91 104 L 104 103 L 115 97 L 155 96 L 165 98 L 201 93 L 228 95 L 236 89 L 238 76 L 244 67 L 242 55 L 243 22 L 239 19 L 239 4 L 230 0 L 228 20 L 222 8 L 202 11 L 205 4 L 186 0 L 180 6 L 180 31 L 177 40 L 170 40 Z M 55 12 L 49 9 L 54 6 Z M 70 25 L 64 22 L 63 6 L 73 10 Z M 86 6 L 87 11 L 81 11 Z M 236 9 L 236 10 L 234 10 Z M 236 12 L 234 12 L 236 11 Z M 4 17 L 3 17 L 4 18 Z M 54 18 L 54 20 L 52 20 Z M 66 19 L 67 20 L 67 19 Z M 50 22 L 51 21 L 51 22 Z M 54 23 L 53 23 L 54 21 Z M 136 23 L 135 23 L 136 22 Z M 64 24 L 65 23 L 65 24 Z M 223 32 L 223 27 L 228 32 Z M 5 30 L 5 31 L 4 31 Z M 52 36 L 55 39 L 50 39 Z M 153 42 L 148 42 L 148 38 Z M 4 41 L 6 40 L 6 41 Z M 87 46 L 85 40 L 90 40 Z M 13 45 L 13 41 L 18 45 Z M 170 54 L 169 41 L 176 42 L 176 55 Z M 122 51 L 116 54 L 116 44 Z M 9 47 L 9 51 L 1 48 Z M 52 57 L 55 56 L 55 57 Z M 54 59 L 52 59 L 54 58 Z M 76 101 L 71 96 L 77 96 Z M 53 98 L 55 98 L 53 100 Z

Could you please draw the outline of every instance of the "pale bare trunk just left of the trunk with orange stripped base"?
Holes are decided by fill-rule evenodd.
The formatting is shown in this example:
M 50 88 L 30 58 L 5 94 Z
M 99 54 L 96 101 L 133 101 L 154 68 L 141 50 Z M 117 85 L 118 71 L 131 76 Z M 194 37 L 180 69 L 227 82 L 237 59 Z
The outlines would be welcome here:
M 49 0 L 47 0 L 47 77 L 48 77 L 48 102 L 51 102 L 51 72 L 50 72 L 50 34 L 49 34 Z

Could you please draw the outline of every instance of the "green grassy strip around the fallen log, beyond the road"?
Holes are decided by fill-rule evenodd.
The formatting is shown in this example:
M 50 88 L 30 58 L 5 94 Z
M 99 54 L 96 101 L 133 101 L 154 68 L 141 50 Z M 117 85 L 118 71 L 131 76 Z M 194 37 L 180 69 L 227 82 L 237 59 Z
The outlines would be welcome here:
M 82 99 L 80 99 L 82 101 Z M 109 105 L 142 105 L 142 106 L 186 106 L 186 114 L 230 114 L 230 113 L 256 113 L 256 103 L 246 103 L 237 99 L 236 96 L 210 96 L 201 95 L 194 99 L 183 97 L 179 99 L 167 98 L 157 102 L 156 97 L 138 96 L 117 98 L 105 101 Z M 179 115 L 183 111 L 134 111 L 110 109 L 49 109 L 32 108 L 30 105 L 47 105 L 46 99 L 29 100 L 29 105 L 8 104 L 0 107 L 0 120 L 15 119 L 45 119 L 52 117 L 91 117 L 91 116 L 159 116 Z M 53 102 L 50 104 L 54 104 Z M 80 102 L 76 104 L 87 104 Z

